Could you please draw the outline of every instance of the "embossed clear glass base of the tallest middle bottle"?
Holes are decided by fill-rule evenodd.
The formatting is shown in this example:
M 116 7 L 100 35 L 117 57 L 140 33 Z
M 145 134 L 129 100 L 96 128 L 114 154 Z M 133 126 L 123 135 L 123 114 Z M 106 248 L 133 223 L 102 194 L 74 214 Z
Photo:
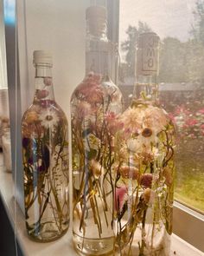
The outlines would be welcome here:
M 73 246 L 80 255 L 113 255 L 114 238 L 86 239 L 73 232 Z

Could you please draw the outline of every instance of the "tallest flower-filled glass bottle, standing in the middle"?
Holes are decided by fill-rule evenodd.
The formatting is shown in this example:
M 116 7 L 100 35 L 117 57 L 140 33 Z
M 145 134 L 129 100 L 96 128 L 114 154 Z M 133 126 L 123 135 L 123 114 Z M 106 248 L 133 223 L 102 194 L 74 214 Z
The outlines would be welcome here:
M 73 244 L 82 254 L 113 250 L 114 135 L 122 95 L 110 79 L 105 8 L 86 10 L 86 77 L 73 91 Z

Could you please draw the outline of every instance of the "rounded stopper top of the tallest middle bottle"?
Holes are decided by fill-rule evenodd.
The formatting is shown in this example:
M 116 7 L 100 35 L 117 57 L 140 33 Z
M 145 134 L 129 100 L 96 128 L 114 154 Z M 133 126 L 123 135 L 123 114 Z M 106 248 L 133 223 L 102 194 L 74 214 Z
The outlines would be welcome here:
M 105 19 L 107 18 L 107 12 L 105 7 L 99 6 L 99 5 L 93 5 L 86 9 L 86 20 L 87 19 L 96 19 L 101 18 Z

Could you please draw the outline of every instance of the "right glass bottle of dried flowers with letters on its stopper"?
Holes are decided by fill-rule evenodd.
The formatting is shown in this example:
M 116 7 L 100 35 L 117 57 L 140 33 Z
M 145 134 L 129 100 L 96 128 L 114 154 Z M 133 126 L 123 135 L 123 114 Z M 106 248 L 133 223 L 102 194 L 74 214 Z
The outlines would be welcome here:
M 118 118 L 116 255 L 170 255 L 175 128 L 157 99 L 159 41 L 153 32 L 139 36 L 133 100 Z

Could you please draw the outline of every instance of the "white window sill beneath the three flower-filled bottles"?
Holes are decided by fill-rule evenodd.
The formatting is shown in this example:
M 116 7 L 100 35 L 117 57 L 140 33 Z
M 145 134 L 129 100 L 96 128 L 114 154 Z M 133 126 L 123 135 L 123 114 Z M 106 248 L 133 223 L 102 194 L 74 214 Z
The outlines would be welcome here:
M 0 155 L 2 158 L 2 155 Z M 13 195 L 14 186 L 12 181 L 12 175 L 4 171 L 4 167 L 1 166 L 2 159 L 0 159 L 0 196 L 3 200 L 3 205 L 10 219 L 10 223 L 16 230 L 16 238 L 21 246 L 22 253 L 25 256 L 67 256 L 78 255 L 72 244 L 72 226 L 69 227 L 69 231 L 60 239 L 49 243 L 36 243 L 29 240 L 29 237 L 25 230 L 24 217 L 20 207 L 16 204 Z M 16 218 L 15 218 L 16 215 Z M 16 223 L 16 226 L 14 226 Z M 188 227 L 186 227 L 188 228 Z M 197 250 L 187 242 L 176 236 L 172 235 L 171 254 L 169 256 L 204 256 L 204 253 Z

